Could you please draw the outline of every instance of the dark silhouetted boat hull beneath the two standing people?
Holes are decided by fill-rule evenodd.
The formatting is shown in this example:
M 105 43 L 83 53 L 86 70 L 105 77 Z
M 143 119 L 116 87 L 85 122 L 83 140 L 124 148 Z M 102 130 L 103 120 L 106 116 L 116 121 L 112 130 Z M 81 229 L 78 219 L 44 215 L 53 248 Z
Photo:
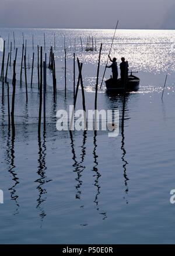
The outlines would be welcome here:
M 124 85 L 122 85 L 121 78 L 115 80 L 113 78 L 108 79 L 106 82 L 107 91 L 117 92 L 122 94 L 124 92 Z M 140 79 L 135 75 L 128 75 L 126 83 L 126 92 L 138 91 Z

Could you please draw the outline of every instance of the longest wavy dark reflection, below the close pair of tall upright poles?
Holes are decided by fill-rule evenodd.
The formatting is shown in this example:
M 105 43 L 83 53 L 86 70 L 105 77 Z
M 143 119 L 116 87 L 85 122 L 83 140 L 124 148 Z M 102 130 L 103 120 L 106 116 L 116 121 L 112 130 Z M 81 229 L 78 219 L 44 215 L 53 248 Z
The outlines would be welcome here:
M 47 182 L 50 182 L 51 180 L 47 180 L 46 176 L 46 131 L 43 132 L 43 144 L 41 143 L 41 137 L 38 136 L 38 171 L 37 174 L 40 178 L 38 178 L 35 182 L 38 183 L 37 189 L 38 189 L 38 199 L 37 199 L 37 208 L 40 209 L 40 217 L 41 221 L 44 220 L 44 217 L 46 216 L 46 212 L 44 210 L 44 207 L 41 206 L 46 199 L 47 199 L 47 190 L 44 188 L 44 185 Z

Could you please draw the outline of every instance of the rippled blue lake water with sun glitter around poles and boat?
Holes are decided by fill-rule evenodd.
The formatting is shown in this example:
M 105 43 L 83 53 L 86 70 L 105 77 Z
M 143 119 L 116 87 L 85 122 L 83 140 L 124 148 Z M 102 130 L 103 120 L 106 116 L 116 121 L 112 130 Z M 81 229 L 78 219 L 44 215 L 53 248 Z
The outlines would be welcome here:
M 174 30 L 117 30 L 111 56 L 125 56 L 129 68 L 141 78 L 138 92 L 126 97 L 124 132 L 58 132 L 55 114 L 73 103 L 73 53 L 83 63 L 86 108 L 93 109 L 100 43 L 103 43 L 100 81 L 114 30 L 0 29 L 8 34 L 15 57 L 17 47 L 15 123 L 16 136 L 8 133 L 7 88 L 5 104 L 0 101 L 0 243 L 20 244 L 136 244 L 175 243 L 175 94 Z M 27 69 L 29 101 L 19 86 L 22 43 L 27 40 L 30 69 Z M 57 103 L 53 103 L 52 74 L 47 71 L 47 127 L 37 134 L 37 44 L 46 53 L 56 39 Z M 34 35 L 34 78 L 30 89 Z M 64 35 L 67 46 L 67 99 L 64 98 Z M 81 41 L 83 51 L 81 49 Z M 88 36 L 97 51 L 86 52 Z M 76 38 L 76 40 L 74 40 Z M 74 43 L 76 42 L 76 47 Z M 0 53 L 2 62 L 2 52 Z M 28 60 L 27 60 L 28 63 Z M 48 60 L 47 60 L 48 63 Z M 28 64 L 27 64 L 28 65 Z M 76 67 L 76 78 L 78 75 Z M 111 71 L 107 70 L 106 78 Z M 168 75 L 163 101 L 164 79 Z M 24 74 L 23 74 L 24 75 Z M 12 79 L 12 67 L 8 78 Z M 10 81 L 10 80 L 9 80 Z M 23 77 L 24 81 L 24 77 Z M 2 85 L 0 84 L 0 96 Z M 12 85 L 10 84 L 10 95 Z M 11 101 L 11 96 L 10 96 Z M 118 109 L 122 96 L 99 89 L 98 109 Z M 77 109 L 82 109 L 81 90 Z

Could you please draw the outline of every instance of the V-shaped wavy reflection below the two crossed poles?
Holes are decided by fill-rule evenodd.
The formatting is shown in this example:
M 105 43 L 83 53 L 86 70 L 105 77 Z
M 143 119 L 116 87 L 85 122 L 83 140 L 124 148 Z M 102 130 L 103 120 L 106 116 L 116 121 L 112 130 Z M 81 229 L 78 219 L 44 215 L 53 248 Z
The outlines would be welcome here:
M 83 144 L 81 146 L 82 148 L 82 154 L 81 154 L 81 161 L 78 162 L 76 159 L 76 154 L 75 154 L 75 148 L 74 148 L 74 139 L 72 136 L 72 131 L 69 131 L 70 134 L 70 138 L 71 138 L 71 148 L 72 148 L 72 160 L 74 160 L 74 164 L 72 165 L 72 167 L 74 167 L 74 172 L 76 172 L 77 174 L 77 178 L 75 178 L 75 180 L 78 182 L 77 185 L 75 186 L 76 188 L 76 195 L 75 198 L 76 199 L 81 199 L 81 186 L 83 181 L 81 180 L 82 177 L 82 172 L 85 169 L 85 166 L 81 165 L 85 159 L 85 155 L 86 155 L 86 147 L 85 147 L 85 143 L 86 143 L 86 139 L 87 139 L 87 131 L 85 130 L 83 132 Z

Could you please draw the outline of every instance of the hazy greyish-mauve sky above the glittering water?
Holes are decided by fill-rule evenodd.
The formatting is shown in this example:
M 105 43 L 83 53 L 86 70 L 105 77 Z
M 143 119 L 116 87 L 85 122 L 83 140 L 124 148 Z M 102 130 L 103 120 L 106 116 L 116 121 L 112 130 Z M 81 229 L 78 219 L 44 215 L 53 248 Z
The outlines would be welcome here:
M 174 0 L 0 0 L 1 27 L 174 29 Z

